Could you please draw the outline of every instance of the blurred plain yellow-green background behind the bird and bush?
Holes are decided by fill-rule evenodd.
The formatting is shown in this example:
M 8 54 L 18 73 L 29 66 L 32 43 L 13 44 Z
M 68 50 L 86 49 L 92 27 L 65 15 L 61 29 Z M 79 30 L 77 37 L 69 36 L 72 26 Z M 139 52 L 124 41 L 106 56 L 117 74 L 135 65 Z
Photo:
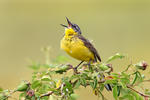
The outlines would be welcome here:
M 150 62 L 149 0 L 0 0 L 0 87 L 31 79 L 29 60 L 43 63 L 42 47 L 51 46 L 51 59 L 69 57 L 59 47 L 65 16 L 93 40 L 103 61 L 121 52 Z M 80 100 L 96 99 L 88 89 L 80 92 Z

